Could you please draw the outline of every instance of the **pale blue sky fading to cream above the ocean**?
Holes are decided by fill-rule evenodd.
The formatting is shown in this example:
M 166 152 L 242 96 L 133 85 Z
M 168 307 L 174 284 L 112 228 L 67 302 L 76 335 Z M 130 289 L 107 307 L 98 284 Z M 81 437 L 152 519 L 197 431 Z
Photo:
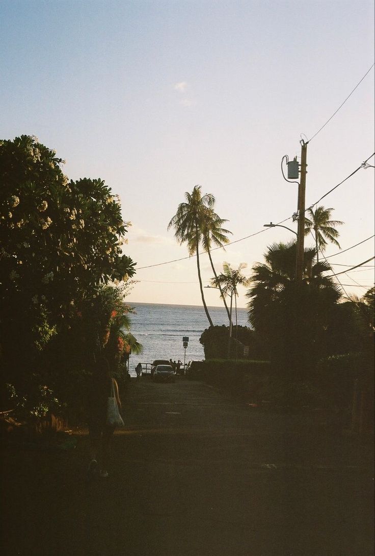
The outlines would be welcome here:
M 263 227 L 297 209 L 282 157 L 300 157 L 301 137 L 371 68 L 373 12 L 372 0 L 1 0 L 1 138 L 35 135 L 65 159 L 69 178 L 100 177 L 119 194 L 132 224 L 124 252 L 139 269 L 130 301 L 200 305 L 196 258 L 167 231 L 185 192 L 200 185 L 228 220 L 234 243 L 212 253 L 218 272 L 244 262 L 251 276 L 267 246 L 293 239 Z M 308 143 L 306 206 L 373 152 L 374 67 Z M 374 168 L 319 204 L 344 222 L 342 251 L 371 237 Z M 284 225 L 296 230 L 292 219 Z M 373 257 L 373 238 L 338 253 L 325 251 L 335 273 Z M 362 296 L 373 265 L 335 280 Z M 209 285 L 207 255 L 201 270 Z M 204 291 L 207 305 L 221 305 L 217 290 Z

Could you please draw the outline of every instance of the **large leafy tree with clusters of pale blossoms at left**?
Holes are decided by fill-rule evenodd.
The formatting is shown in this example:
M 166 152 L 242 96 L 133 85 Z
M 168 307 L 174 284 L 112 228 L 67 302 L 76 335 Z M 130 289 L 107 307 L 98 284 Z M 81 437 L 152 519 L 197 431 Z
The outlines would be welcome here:
M 118 197 L 100 179 L 69 181 L 62 165 L 36 137 L 0 141 L 0 341 L 8 364 L 20 338 L 30 363 L 28 350 L 41 351 L 69 327 L 99 284 L 135 274 L 121 254 L 129 223 Z

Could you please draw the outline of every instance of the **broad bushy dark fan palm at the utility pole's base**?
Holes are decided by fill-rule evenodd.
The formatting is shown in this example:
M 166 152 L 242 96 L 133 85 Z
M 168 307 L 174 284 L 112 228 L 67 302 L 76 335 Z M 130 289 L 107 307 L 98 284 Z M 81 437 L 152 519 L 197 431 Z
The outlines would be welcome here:
M 265 262 L 254 265 L 247 292 L 249 322 L 264 354 L 286 373 L 308 373 L 325 353 L 328 325 L 341 297 L 326 261 L 315 248 L 304 252 L 305 279 L 295 280 L 296 242 L 268 247 Z

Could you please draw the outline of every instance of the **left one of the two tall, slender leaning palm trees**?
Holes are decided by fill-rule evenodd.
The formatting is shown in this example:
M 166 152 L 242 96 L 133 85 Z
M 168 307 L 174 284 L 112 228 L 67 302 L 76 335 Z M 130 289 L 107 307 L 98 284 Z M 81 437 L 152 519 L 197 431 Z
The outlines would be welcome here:
M 215 202 L 215 197 L 211 193 L 202 195 L 201 186 L 196 185 L 191 193 L 185 192 L 186 202 L 180 203 L 176 214 L 170 220 L 167 230 L 171 227 L 175 230 L 175 238 L 182 245 L 186 243 L 189 255 L 196 255 L 196 266 L 202 302 L 210 326 L 214 326 L 207 309 L 203 293 L 202 278 L 200 273 L 199 244 L 202 239 L 202 222 L 207 209 L 211 209 Z

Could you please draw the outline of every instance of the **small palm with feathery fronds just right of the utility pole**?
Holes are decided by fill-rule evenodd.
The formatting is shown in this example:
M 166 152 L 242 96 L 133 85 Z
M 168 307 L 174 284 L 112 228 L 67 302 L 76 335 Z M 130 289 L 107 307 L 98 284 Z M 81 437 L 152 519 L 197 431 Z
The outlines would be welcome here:
M 310 234 L 312 230 L 314 232 L 317 262 L 319 261 L 319 249 L 324 251 L 328 245 L 326 240 L 337 245 L 337 247 L 341 249 L 337 241 L 339 232 L 336 230 L 335 226 L 341 226 L 344 223 L 340 220 L 330 220 L 333 210 L 332 208 L 325 209 L 325 207 L 321 205 L 318 206 L 315 211 L 311 208 L 308 209 L 307 213 L 310 215 L 310 219 L 305 217 L 305 235 Z

